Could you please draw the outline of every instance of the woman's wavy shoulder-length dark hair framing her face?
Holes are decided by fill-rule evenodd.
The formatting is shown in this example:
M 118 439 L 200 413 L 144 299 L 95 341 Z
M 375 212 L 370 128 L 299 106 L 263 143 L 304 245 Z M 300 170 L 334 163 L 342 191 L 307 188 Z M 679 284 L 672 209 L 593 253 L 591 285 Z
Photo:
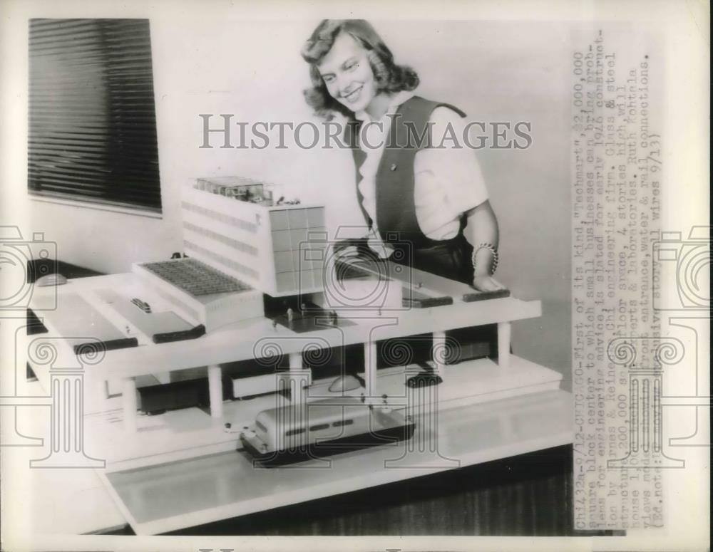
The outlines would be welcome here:
M 394 54 L 384 44 L 374 27 L 364 19 L 324 19 L 302 48 L 302 58 L 309 63 L 309 77 L 312 88 L 304 90 L 304 99 L 314 109 L 314 113 L 331 119 L 335 111 L 352 115 L 352 111 L 332 98 L 327 85 L 319 74 L 317 64 L 332 49 L 339 33 L 349 33 L 366 50 L 366 57 L 374 71 L 376 90 L 379 92 L 400 92 L 414 90 L 419 85 L 419 75 L 408 66 L 394 63 Z

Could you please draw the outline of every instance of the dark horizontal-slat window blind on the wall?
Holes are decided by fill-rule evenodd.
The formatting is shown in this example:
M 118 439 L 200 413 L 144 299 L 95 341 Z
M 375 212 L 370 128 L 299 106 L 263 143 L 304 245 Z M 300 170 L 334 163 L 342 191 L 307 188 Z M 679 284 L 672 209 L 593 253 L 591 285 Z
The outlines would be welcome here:
M 31 19 L 31 194 L 161 210 L 148 19 Z

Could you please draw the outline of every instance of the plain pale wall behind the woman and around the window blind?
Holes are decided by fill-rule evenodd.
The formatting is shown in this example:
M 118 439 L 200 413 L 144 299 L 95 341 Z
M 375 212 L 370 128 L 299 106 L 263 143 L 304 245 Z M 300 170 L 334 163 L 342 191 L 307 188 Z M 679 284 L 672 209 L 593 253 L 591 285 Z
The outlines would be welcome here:
M 128 271 L 135 261 L 168 258 L 181 249 L 180 187 L 209 175 L 281 182 L 288 197 L 326 202 L 333 225 L 362 224 L 349 152 L 199 148 L 199 113 L 232 113 L 234 120 L 249 122 L 314 120 L 302 100 L 308 80 L 299 48 L 317 20 L 241 21 L 235 13 L 225 16 L 205 7 L 202 16 L 195 11 L 151 16 L 163 218 L 31 202 L 33 229 L 57 241 L 61 259 L 117 272 Z M 525 27 L 506 21 L 374 24 L 397 60 L 419 71 L 421 95 L 453 103 L 475 120 L 532 123 L 530 149 L 488 149 L 475 155 L 501 225 L 498 278 L 515 296 L 543 301 L 542 318 L 515 324 L 515 353 L 568 378 L 565 26 Z M 18 43 L 17 51 L 23 50 L 26 42 Z

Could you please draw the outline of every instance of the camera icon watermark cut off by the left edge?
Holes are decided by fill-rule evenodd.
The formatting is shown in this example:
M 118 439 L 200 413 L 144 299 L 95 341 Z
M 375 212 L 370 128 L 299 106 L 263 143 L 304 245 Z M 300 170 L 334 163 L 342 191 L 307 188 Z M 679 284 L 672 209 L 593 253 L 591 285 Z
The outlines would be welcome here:
M 0 317 L 24 311 L 34 292 L 34 281 L 56 272 L 57 244 L 46 241 L 44 234 L 34 232 L 24 239 L 18 226 L 0 226 Z M 36 311 L 52 311 L 57 307 L 56 288 L 43 293 Z

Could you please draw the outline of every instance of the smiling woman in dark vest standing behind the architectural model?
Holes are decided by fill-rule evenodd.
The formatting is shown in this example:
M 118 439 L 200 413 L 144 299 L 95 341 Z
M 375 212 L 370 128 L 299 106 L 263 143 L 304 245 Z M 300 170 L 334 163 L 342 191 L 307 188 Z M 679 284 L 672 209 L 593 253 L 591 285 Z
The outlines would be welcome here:
M 449 133 L 461 140 L 465 114 L 414 95 L 418 75 L 394 63 L 364 20 L 322 21 L 302 57 L 314 85 L 305 91 L 309 105 L 349 120 L 369 246 L 481 291 L 503 289 L 492 277 L 498 223 L 476 157 L 462 144 L 445 147 L 453 138 L 441 140 Z M 418 140 L 424 131 L 429 140 Z

